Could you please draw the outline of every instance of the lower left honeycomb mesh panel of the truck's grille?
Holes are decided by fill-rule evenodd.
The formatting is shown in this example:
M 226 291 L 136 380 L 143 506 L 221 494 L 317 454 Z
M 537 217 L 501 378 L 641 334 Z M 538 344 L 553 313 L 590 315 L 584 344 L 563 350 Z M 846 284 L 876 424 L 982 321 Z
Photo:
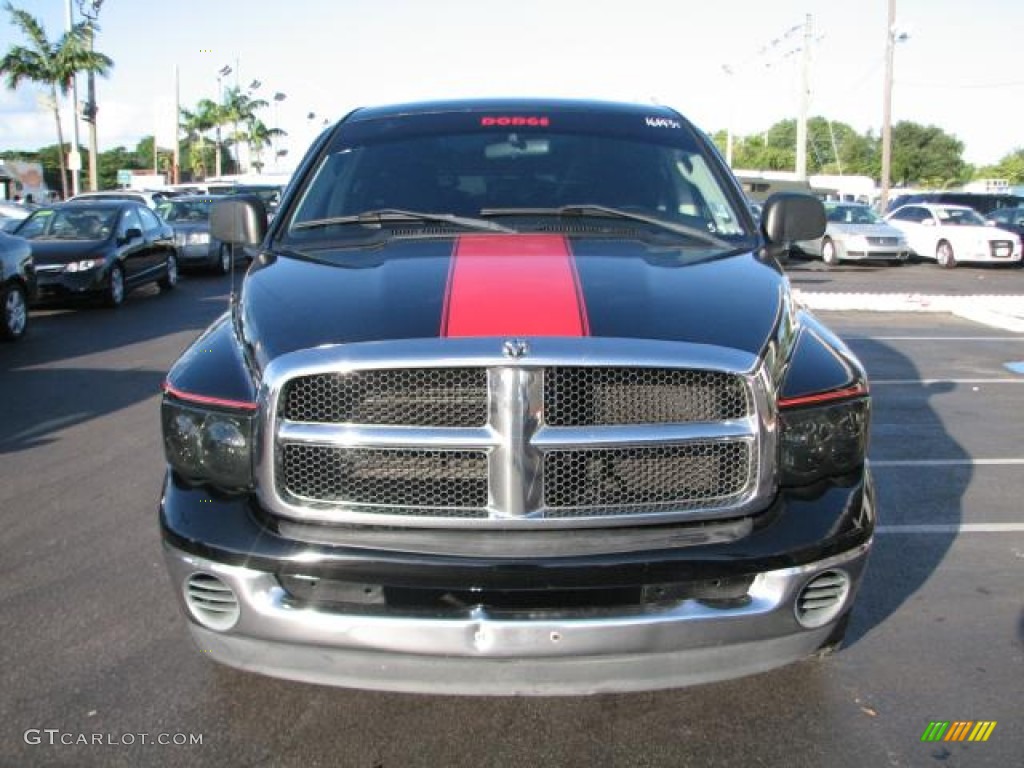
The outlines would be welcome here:
M 404 451 L 285 445 L 284 488 L 299 499 L 387 505 L 388 514 L 483 516 L 487 457 L 482 451 Z M 450 508 L 444 510 L 442 508 Z

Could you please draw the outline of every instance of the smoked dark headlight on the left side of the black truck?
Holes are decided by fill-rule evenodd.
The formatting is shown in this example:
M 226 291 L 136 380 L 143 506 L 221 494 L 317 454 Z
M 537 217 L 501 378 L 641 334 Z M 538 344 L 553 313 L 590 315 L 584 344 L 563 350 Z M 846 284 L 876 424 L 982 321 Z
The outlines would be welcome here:
M 164 397 L 167 462 L 184 478 L 226 490 L 253 482 L 253 414 L 204 408 Z

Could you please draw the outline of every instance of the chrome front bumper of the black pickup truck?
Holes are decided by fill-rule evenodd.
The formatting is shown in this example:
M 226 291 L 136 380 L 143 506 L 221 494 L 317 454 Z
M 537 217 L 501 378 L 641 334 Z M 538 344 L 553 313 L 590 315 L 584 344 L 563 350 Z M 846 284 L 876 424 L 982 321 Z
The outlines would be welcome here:
M 516 618 L 478 608 L 461 618 L 296 608 L 273 573 L 224 565 L 165 542 L 196 643 L 214 659 L 274 677 L 423 693 L 555 695 L 650 690 L 725 680 L 798 660 L 818 648 L 852 604 L 870 542 L 836 557 L 759 573 L 741 606 L 680 600 L 622 615 Z M 805 629 L 795 605 L 825 570 L 850 581 L 842 609 Z M 238 601 L 225 631 L 201 626 L 185 599 L 197 573 Z

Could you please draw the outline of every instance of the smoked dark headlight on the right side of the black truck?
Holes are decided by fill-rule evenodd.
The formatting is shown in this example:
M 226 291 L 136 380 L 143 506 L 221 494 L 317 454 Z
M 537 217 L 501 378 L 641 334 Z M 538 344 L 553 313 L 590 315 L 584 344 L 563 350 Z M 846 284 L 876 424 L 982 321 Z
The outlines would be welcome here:
M 806 485 L 850 474 L 867 454 L 866 397 L 779 410 L 779 467 L 783 485 Z

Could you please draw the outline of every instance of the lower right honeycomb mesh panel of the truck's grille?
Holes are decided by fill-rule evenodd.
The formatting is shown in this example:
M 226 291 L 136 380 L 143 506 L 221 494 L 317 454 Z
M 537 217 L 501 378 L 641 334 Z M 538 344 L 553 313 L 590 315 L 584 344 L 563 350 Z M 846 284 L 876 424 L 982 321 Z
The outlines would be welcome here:
M 745 442 L 555 451 L 544 461 L 544 501 L 552 516 L 571 508 L 714 506 L 744 490 L 751 461 Z

